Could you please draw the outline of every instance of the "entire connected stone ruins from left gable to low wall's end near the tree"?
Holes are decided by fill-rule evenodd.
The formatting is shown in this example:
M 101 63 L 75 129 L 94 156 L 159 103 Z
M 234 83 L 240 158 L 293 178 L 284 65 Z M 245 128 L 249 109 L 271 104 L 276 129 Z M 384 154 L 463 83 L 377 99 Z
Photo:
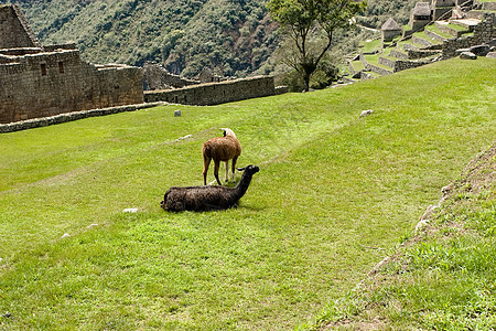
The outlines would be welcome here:
M 157 65 L 149 68 L 148 85 L 155 84 L 151 88 L 198 84 Z M 60 115 L 137 105 L 144 99 L 215 105 L 284 92 L 284 88 L 274 89 L 273 77 L 254 77 L 143 95 L 143 68 L 84 62 L 74 43 L 42 46 L 18 6 L 0 6 L 0 124 L 12 124 L 8 127 L 17 127 L 14 124 L 22 121 L 21 127 L 26 128 L 37 122 L 30 121 L 36 118 L 50 118 L 48 122 L 54 117 L 64 121 L 77 119 L 79 115 Z

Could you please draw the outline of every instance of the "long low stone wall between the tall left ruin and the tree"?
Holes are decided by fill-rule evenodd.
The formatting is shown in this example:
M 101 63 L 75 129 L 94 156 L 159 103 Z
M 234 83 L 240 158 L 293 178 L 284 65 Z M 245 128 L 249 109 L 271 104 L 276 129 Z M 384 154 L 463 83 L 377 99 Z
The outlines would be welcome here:
M 208 83 L 179 89 L 145 90 L 147 103 L 165 102 L 183 105 L 218 105 L 242 99 L 274 95 L 273 77 L 259 76 Z

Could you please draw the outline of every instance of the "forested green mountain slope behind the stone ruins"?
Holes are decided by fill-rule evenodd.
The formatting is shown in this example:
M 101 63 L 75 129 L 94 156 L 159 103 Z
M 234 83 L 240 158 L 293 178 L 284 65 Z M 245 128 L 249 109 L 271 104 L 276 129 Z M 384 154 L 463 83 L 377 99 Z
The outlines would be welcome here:
M 0 0 L 7 2 L 23 9 L 43 44 L 76 42 L 94 63 L 153 61 L 188 77 L 205 66 L 226 76 L 268 74 L 280 39 L 267 0 Z M 406 21 L 413 3 L 369 0 L 359 21 Z

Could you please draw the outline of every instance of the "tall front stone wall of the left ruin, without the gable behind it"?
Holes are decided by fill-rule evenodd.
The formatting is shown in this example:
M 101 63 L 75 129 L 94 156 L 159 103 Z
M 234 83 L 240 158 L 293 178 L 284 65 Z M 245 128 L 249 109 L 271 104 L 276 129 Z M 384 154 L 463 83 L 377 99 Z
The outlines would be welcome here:
M 12 58 L 11 58 L 12 60 Z M 0 65 L 0 122 L 143 103 L 142 71 L 97 67 L 78 51 L 28 54 Z

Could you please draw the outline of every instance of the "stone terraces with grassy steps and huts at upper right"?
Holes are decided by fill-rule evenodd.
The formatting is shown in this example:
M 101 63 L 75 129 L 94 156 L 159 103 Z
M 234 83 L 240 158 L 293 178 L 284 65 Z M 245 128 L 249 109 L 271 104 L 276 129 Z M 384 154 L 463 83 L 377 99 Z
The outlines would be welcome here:
M 495 8 L 496 0 L 432 0 L 431 6 L 418 2 L 409 26 L 403 26 L 400 32 L 396 22 L 388 19 L 381 28 L 381 49 L 373 53 L 360 52 L 359 56 L 348 60 L 353 76 L 345 81 L 354 83 L 384 76 L 461 54 L 462 58 L 494 56 Z M 440 18 L 442 20 L 438 20 Z

